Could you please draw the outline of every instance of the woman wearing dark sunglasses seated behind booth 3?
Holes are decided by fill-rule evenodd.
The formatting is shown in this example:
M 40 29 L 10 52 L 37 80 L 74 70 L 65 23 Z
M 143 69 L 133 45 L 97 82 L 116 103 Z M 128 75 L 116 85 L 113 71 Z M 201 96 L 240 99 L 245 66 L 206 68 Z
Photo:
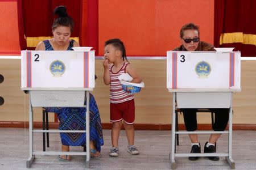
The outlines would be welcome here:
M 175 51 L 215 51 L 214 47 L 207 42 L 200 41 L 199 26 L 193 23 L 185 24 L 180 29 L 180 40 L 182 45 L 174 49 Z M 229 109 L 211 109 L 215 113 L 213 130 L 224 131 L 229 120 Z M 196 112 L 197 109 L 181 109 L 187 131 L 197 130 Z M 204 145 L 205 153 L 216 152 L 216 142 L 221 134 L 211 134 L 209 141 Z M 191 153 L 201 153 L 201 146 L 197 134 L 189 134 L 191 139 Z M 219 160 L 218 156 L 209 156 L 210 160 Z M 189 160 L 197 160 L 199 157 L 190 156 Z

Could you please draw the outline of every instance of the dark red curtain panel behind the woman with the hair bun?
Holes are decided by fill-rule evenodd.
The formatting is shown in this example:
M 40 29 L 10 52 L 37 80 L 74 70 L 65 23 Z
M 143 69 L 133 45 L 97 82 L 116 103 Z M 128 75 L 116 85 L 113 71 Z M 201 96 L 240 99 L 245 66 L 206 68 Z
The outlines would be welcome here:
M 26 37 L 52 36 L 53 10 L 63 5 L 74 20 L 75 27 L 71 37 L 80 37 L 82 0 L 23 0 L 22 13 Z

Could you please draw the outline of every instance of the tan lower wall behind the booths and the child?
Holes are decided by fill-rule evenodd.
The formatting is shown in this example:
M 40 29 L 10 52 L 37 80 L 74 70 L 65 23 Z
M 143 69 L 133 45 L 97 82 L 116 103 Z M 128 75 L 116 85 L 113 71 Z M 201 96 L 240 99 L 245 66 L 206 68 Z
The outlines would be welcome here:
M 166 89 L 165 60 L 130 60 L 142 75 L 145 88 L 135 95 L 137 124 L 171 124 L 172 94 Z M 233 97 L 233 123 L 255 124 L 256 120 L 256 61 L 241 62 L 242 92 Z M 150 68 L 150 69 L 149 69 Z M 5 104 L 0 106 L 0 121 L 28 121 L 28 95 L 20 91 L 20 59 L 0 59 L 0 74 L 5 81 L 0 84 L 0 96 Z M 100 109 L 101 120 L 109 123 L 109 86 L 102 80 L 102 60 L 96 60 L 96 88 L 92 92 Z M 41 109 L 34 111 L 34 121 L 42 121 Z M 180 115 L 179 115 L 180 116 Z M 53 121 L 53 114 L 50 114 Z M 207 113 L 200 113 L 199 123 L 210 123 Z M 183 122 L 183 118 L 179 118 Z

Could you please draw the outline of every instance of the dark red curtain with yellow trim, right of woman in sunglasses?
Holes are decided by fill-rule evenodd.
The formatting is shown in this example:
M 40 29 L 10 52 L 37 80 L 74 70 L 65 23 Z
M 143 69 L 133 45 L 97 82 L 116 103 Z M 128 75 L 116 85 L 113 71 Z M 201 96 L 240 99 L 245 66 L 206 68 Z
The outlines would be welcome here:
M 214 1 L 214 46 L 235 47 L 241 56 L 256 55 L 256 1 Z

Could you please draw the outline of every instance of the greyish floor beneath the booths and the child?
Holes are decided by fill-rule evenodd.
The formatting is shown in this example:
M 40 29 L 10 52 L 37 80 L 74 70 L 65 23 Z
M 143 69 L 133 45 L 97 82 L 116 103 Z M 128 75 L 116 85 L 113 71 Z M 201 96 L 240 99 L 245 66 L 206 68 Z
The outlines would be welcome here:
M 111 131 L 104 130 L 102 157 L 91 160 L 90 169 L 171 169 L 169 153 L 171 150 L 171 131 L 138 130 L 135 131 L 135 145 L 141 154 L 130 155 L 127 152 L 125 131 L 119 137 L 119 156 L 109 156 Z M 209 134 L 201 134 L 201 146 L 207 142 Z M 47 151 L 60 151 L 60 137 L 51 133 Z M 35 150 L 42 151 L 42 134 L 34 135 Z M 227 152 L 228 135 L 222 134 L 217 143 L 217 151 Z M 82 147 L 71 147 L 72 151 L 82 151 Z M 191 143 L 187 135 L 180 135 L 177 152 L 190 152 Z M 203 147 L 201 148 L 203 152 Z M 28 129 L 0 128 L 0 169 L 28 169 Z M 256 169 L 256 131 L 233 131 L 233 154 L 236 169 Z M 176 158 L 177 169 L 230 169 L 224 157 L 213 162 L 200 158 L 194 162 L 188 158 Z M 86 169 L 85 156 L 72 156 L 71 162 L 60 162 L 57 156 L 36 155 L 30 169 Z

